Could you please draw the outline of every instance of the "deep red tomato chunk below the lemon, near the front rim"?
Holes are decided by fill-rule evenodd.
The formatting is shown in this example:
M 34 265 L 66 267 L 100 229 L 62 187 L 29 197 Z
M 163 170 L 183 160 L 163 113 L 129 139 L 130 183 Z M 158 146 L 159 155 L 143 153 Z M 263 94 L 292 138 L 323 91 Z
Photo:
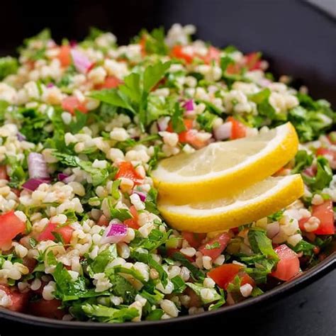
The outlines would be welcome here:
M 237 264 L 223 264 L 208 272 L 208 276 L 215 281 L 222 289 L 228 289 L 230 283 L 235 279 L 235 276 L 240 276 L 241 285 L 250 284 L 255 286 L 254 280 L 243 271 L 244 267 Z

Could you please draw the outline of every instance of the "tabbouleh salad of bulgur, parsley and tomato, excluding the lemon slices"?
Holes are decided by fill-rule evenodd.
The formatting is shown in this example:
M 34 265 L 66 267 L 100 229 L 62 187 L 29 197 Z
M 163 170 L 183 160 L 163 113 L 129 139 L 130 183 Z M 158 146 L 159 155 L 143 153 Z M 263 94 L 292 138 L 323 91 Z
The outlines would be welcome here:
M 0 58 L 2 308 L 103 323 L 176 318 L 262 295 L 332 252 L 330 103 L 276 81 L 261 53 L 194 33 L 175 24 L 118 46 L 96 28 L 60 44 L 46 29 L 18 59 Z M 301 198 L 210 233 L 167 224 L 152 179 L 162 159 L 288 122 L 300 144 L 275 175 L 301 174 Z

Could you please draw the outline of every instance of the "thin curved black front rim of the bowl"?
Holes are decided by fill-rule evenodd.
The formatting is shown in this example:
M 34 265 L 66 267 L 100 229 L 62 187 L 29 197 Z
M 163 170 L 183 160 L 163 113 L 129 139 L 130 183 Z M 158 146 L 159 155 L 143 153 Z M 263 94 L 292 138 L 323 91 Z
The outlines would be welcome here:
M 245 310 L 251 306 L 257 306 L 267 301 L 274 301 L 275 298 L 279 298 L 281 294 L 286 296 L 291 295 L 300 289 L 308 286 L 313 281 L 322 278 L 325 274 L 330 273 L 333 269 L 336 269 L 336 252 L 332 252 L 322 262 L 315 265 L 308 271 L 305 271 L 301 276 L 292 281 L 285 282 L 279 286 L 274 287 L 270 291 L 265 292 L 261 296 L 255 298 L 248 298 L 245 301 L 236 303 L 233 306 L 225 306 L 218 310 L 206 311 L 204 313 L 196 315 L 184 315 L 169 320 L 156 320 L 148 321 L 144 320 L 139 323 L 124 322 L 124 323 L 101 323 L 101 322 L 83 322 L 83 321 L 65 321 L 65 320 L 53 320 L 51 318 L 42 318 L 34 315 L 28 315 L 26 313 L 13 312 L 11 310 L 0 308 L 0 318 L 11 320 L 18 323 L 26 323 L 29 325 L 35 325 L 40 327 L 54 327 L 57 329 L 77 329 L 77 330 L 121 330 L 123 328 L 141 328 L 141 327 L 160 327 L 162 325 L 178 324 L 184 321 L 193 321 L 202 318 L 211 318 L 218 315 L 224 315 L 234 313 L 238 310 Z

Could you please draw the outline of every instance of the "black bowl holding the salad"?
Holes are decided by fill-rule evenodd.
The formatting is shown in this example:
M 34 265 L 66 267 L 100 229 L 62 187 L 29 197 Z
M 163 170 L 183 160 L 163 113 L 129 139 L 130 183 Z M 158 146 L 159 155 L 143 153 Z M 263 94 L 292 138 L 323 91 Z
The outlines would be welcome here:
M 197 38 L 210 40 L 218 46 L 234 44 L 245 52 L 264 51 L 272 72 L 291 74 L 296 79 L 294 83 L 297 86 L 306 84 L 315 99 L 325 98 L 336 105 L 335 18 L 300 1 L 125 0 L 117 3 L 61 0 L 57 1 L 52 11 L 41 6 L 39 1 L 10 1 L 6 4 L 6 16 L 0 21 L 0 55 L 13 54 L 23 38 L 35 35 L 46 26 L 51 28 L 58 41 L 64 36 L 81 39 L 89 26 L 98 26 L 116 33 L 121 43 L 128 43 L 128 39 L 142 27 L 168 28 L 175 22 L 194 23 L 198 27 Z M 106 332 L 125 328 L 152 330 L 155 327 L 156 332 L 162 332 L 166 327 L 172 330 L 186 324 L 197 326 L 199 322 L 211 325 L 211 321 L 215 320 L 256 316 L 279 298 L 312 284 L 335 267 L 334 252 L 302 276 L 262 296 L 213 312 L 172 320 L 111 325 L 50 320 L 4 309 L 0 309 L 0 318 L 13 321 L 11 327 L 16 322 L 28 323 L 47 327 L 47 332 L 50 332 L 50 327 Z M 331 306 L 335 308 L 335 303 Z

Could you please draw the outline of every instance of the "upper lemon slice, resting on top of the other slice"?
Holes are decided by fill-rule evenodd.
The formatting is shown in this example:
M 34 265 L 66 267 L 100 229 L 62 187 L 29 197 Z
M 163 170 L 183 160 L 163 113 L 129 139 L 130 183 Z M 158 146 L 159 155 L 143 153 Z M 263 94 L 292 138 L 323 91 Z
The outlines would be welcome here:
M 291 123 L 239 140 L 214 142 L 159 162 L 152 178 L 160 198 L 181 204 L 232 194 L 284 167 L 298 150 Z

